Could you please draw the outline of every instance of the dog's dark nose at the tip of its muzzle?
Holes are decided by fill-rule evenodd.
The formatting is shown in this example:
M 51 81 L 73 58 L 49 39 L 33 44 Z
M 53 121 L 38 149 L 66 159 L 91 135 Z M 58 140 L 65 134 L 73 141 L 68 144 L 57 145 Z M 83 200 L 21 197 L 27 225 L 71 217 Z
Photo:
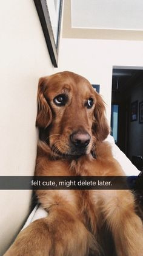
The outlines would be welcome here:
M 87 132 L 74 132 L 70 135 L 71 143 L 79 148 L 85 148 L 90 143 L 90 138 Z

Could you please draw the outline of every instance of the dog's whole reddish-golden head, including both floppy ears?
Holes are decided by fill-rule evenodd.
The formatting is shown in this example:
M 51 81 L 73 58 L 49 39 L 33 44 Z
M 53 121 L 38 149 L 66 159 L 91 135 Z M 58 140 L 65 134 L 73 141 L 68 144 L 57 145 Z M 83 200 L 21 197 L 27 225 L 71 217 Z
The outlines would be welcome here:
M 36 125 L 55 154 L 89 154 L 108 135 L 104 103 L 84 77 L 68 71 L 39 80 Z

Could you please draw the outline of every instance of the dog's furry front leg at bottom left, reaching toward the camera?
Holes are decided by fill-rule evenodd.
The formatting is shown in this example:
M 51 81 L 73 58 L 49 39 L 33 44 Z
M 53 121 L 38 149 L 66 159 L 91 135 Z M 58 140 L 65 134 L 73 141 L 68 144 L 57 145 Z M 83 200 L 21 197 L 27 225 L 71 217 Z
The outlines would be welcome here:
M 22 230 L 4 256 L 87 256 L 96 249 L 70 205 L 51 205 L 48 216 Z

